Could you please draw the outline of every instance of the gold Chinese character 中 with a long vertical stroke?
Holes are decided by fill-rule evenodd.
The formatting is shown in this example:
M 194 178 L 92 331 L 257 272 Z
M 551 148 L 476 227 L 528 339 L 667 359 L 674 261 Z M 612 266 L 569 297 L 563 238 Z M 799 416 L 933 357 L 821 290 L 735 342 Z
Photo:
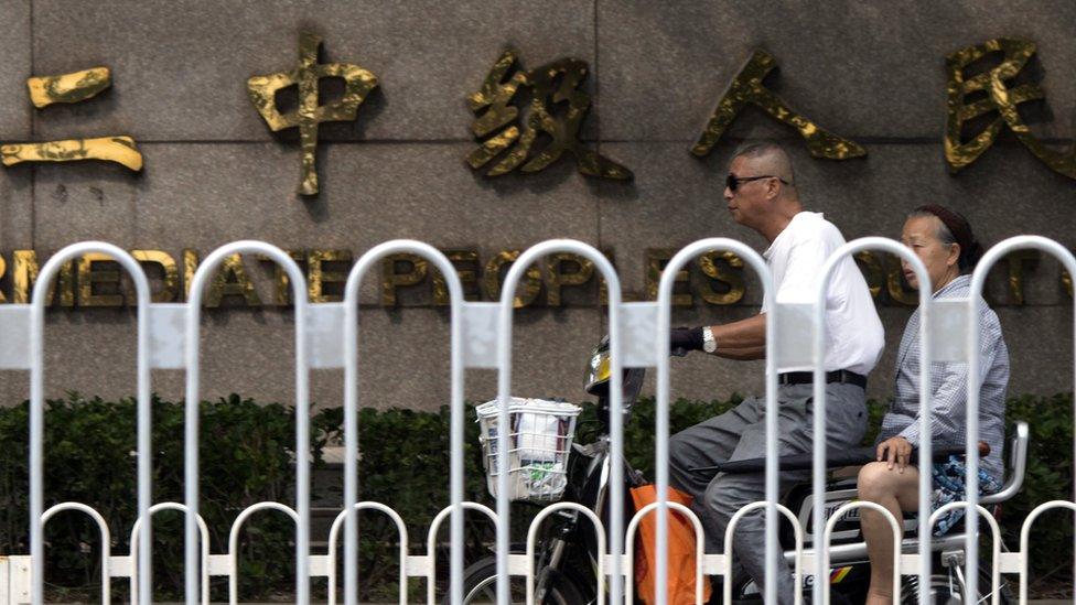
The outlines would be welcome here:
M 310 32 L 299 36 L 299 65 L 287 73 L 254 76 L 247 80 L 250 101 L 273 131 L 299 128 L 302 148 L 302 175 L 299 193 L 318 194 L 318 125 L 354 120 L 358 106 L 377 87 L 377 77 L 349 63 L 318 63 L 321 37 Z M 344 79 L 344 96 L 331 104 L 319 105 L 318 83 L 322 78 Z M 277 93 L 289 86 L 299 88 L 299 108 L 289 114 L 277 110 Z

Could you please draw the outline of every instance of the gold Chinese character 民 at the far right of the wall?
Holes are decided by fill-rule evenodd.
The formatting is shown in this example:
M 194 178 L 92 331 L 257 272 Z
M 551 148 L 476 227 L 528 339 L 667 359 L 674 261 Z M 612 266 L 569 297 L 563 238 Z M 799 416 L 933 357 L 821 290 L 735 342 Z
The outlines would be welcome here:
M 969 65 L 991 53 L 1002 53 L 1000 65 L 970 77 L 965 74 Z M 1055 172 L 1076 179 L 1076 147 L 1065 153 L 1046 149 L 1020 117 L 1018 108 L 1020 104 L 1043 99 L 1046 94 L 1034 84 L 1009 87 L 1012 78 L 1023 69 L 1027 60 L 1034 54 L 1033 42 L 999 37 L 961 48 L 946 57 L 949 115 L 945 127 L 945 160 L 949 163 L 950 172 L 959 172 L 979 159 L 993 144 L 1001 129 L 1008 125 L 1016 139 L 1043 163 Z M 969 95 L 981 93 L 986 93 L 984 98 L 971 102 L 966 100 Z M 965 123 L 991 111 L 997 111 L 998 118 L 971 140 L 962 142 Z

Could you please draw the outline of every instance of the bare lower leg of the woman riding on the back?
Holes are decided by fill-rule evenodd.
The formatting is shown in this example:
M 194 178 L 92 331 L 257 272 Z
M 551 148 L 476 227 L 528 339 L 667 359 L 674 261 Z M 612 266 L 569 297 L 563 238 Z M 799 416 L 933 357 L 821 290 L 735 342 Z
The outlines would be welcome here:
M 918 508 L 919 473 L 906 466 L 901 473 L 885 462 L 872 462 L 859 472 L 859 497 L 876 503 L 893 514 L 897 522 L 904 511 Z M 893 528 L 881 514 L 860 509 L 860 526 L 867 540 L 867 553 L 871 559 L 871 587 L 867 605 L 893 603 Z

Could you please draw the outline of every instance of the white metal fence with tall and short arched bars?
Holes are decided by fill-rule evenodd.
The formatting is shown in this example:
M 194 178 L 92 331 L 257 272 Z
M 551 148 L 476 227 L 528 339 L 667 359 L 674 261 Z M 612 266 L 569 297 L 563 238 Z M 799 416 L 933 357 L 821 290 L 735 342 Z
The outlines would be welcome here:
M 919 307 L 922 313 L 922 377 L 923 390 L 921 400 L 927 402 L 922 414 L 923 432 L 921 450 L 923 460 L 928 460 L 930 452 L 929 431 L 929 371 L 930 361 L 967 361 L 969 367 L 969 383 L 977 385 L 979 365 L 979 329 L 977 326 L 979 294 L 982 292 L 986 276 L 990 268 L 1008 252 L 1016 249 L 1037 249 L 1056 257 L 1067 269 L 1069 274 L 1076 276 L 1076 259 L 1056 241 L 1036 237 L 1019 236 L 1008 239 L 991 248 L 977 267 L 971 291 L 973 295 L 961 301 L 933 301 L 927 289 L 919 291 Z M 186 303 L 152 303 L 150 302 L 149 282 L 138 261 L 125 250 L 105 242 L 87 241 L 68 246 L 53 256 L 41 270 L 34 284 L 31 304 L 0 305 L 0 335 L 3 346 L 0 347 L 0 369 L 22 369 L 30 372 L 30 554 L 0 559 L 0 603 L 34 603 L 43 602 L 43 562 L 44 548 L 43 527 L 55 514 L 63 510 L 78 510 L 88 515 L 99 528 L 103 544 L 101 565 L 101 601 L 109 603 L 109 584 L 111 579 L 128 579 L 131 586 L 131 599 L 139 604 L 152 601 L 151 583 L 139 582 L 140 577 L 151 576 L 151 548 L 153 512 L 163 509 L 181 510 L 185 515 L 185 595 L 189 605 L 208 602 L 209 576 L 227 576 L 229 581 L 229 597 L 236 603 L 237 595 L 237 548 L 238 534 L 244 522 L 256 512 L 283 512 L 295 522 L 295 561 L 297 577 L 295 592 L 299 603 L 310 602 L 311 577 L 327 577 L 330 586 L 330 602 L 335 602 L 337 586 L 336 568 L 340 555 L 336 540 L 341 528 L 344 532 L 343 555 L 343 594 L 346 605 L 354 605 L 357 595 L 357 521 L 356 515 L 361 509 L 373 509 L 387 515 L 396 525 L 400 534 L 399 566 L 400 566 L 400 603 L 407 602 L 407 579 L 420 577 L 426 580 L 427 599 L 432 604 L 437 595 L 434 591 L 435 577 L 435 540 L 440 526 L 449 519 L 451 526 L 451 564 L 450 564 L 450 597 L 453 603 L 463 598 L 463 515 L 466 510 L 480 511 L 494 522 L 497 531 L 496 554 L 497 573 L 501 580 L 508 576 L 524 576 L 527 585 L 527 602 L 534 603 L 535 590 L 535 558 L 538 548 L 537 527 L 549 515 L 558 510 L 570 509 L 579 511 L 589 522 L 596 527 L 599 545 L 604 554 L 596 561 L 599 576 L 607 580 L 598 583 L 599 599 L 606 595 L 611 602 L 620 603 L 631 599 L 631 586 L 625 585 L 633 579 L 633 557 L 631 554 L 636 539 L 634 530 L 643 516 L 657 512 L 657 543 L 664 544 L 668 537 L 668 510 L 675 508 L 688 516 L 693 523 L 699 544 L 698 576 L 723 575 L 727 579 L 732 573 L 732 534 L 736 521 L 749 510 L 764 508 L 766 511 L 766 551 L 767 576 L 774 577 L 776 558 L 779 548 L 777 541 L 778 516 L 787 518 L 795 530 L 796 549 L 794 566 L 797 581 L 800 574 L 814 573 L 815 577 L 828 577 L 829 572 L 829 538 L 835 522 L 843 514 L 862 507 L 869 507 L 882 512 L 894 528 L 894 536 L 899 534 L 900 525 L 896 519 L 881 507 L 865 503 L 850 503 L 831 514 L 827 523 L 814 523 L 815 550 L 803 548 L 804 529 L 796 516 L 778 504 L 778 456 L 777 456 L 777 413 L 776 413 L 776 371 L 782 365 L 810 364 L 815 368 L 815 414 L 814 434 L 825 434 L 826 430 L 826 391 L 824 368 L 824 317 L 826 284 L 833 268 L 844 257 L 861 250 L 883 250 L 908 261 L 918 276 L 919 283 L 929 283 L 922 262 L 904 246 L 884 238 L 863 238 L 849 242 L 838 250 L 826 263 L 824 278 L 818 283 L 815 304 L 775 304 L 770 272 L 763 258 L 747 246 L 727 238 L 703 239 L 680 250 L 668 263 L 663 273 L 656 302 L 622 302 L 621 287 L 617 274 L 609 260 L 593 247 L 574 240 L 549 240 L 536 245 L 525 251 L 508 271 L 502 288 L 501 301 L 469 302 L 463 298 L 463 289 L 452 263 L 437 249 L 429 245 L 413 240 L 394 240 L 381 244 L 366 252 L 353 267 L 348 277 L 343 302 L 309 303 L 306 300 L 305 279 L 299 266 L 283 250 L 260 241 L 237 241 L 224 246 L 209 255 L 198 267 L 193 278 L 190 300 Z M 724 537 L 725 550 L 723 554 L 702 553 L 702 529 L 698 518 L 681 505 L 669 504 L 664 495 L 667 493 L 668 477 L 668 436 L 669 436 L 669 327 L 671 313 L 671 296 L 676 273 L 700 253 L 719 250 L 731 251 L 740 256 L 758 274 L 768 309 L 774 310 L 766 315 L 766 498 L 744 507 L 735 515 Z M 130 274 L 134 283 L 138 304 L 138 511 L 139 520 L 131 529 L 131 552 L 129 554 L 112 554 L 109 550 L 109 529 L 106 520 L 93 508 L 79 503 L 62 503 L 44 510 L 45 497 L 43 493 L 43 406 L 44 406 L 44 365 L 43 365 L 43 327 L 49 287 L 60 272 L 61 267 L 68 260 L 85 253 L 100 252 L 112 257 Z M 432 522 L 427 540 L 424 554 L 412 553 L 409 549 L 407 525 L 391 508 L 378 503 L 357 501 L 357 409 L 363 406 L 370 393 L 365 393 L 358 380 L 358 366 L 363 360 L 358 356 L 357 337 L 362 328 L 358 315 L 358 292 L 366 273 L 388 255 L 410 252 L 426 258 L 444 276 L 450 295 L 451 312 L 451 425 L 450 425 L 450 495 L 451 501 Z M 646 367 L 657 370 L 657 407 L 655 431 L 655 466 L 656 488 L 658 501 L 635 515 L 632 519 L 624 519 L 622 514 L 625 498 L 623 468 L 620 464 L 610 466 L 610 516 L 609 526 L 585 507 L 571 503 L 559 503 L 547 507 L 531 523 L 528 533 L 527 553 L 509 552 L 509 501 L 508 501 L 508 457 L 497 456 L 498 463 L 498 498 L 496 510 L 481 504 L 463 501 L 463 452 L 464 452 L 464 370 L 466 368 L 493 368 L 498 371 L 498 398 L 502 402 L 499 425 L 508 425 L 507 401 L 512 396 L 512 337 L 513 337 L 513 298 L 516 287 L 524 277 L 526 268 L 540 258 L 557 253 L 571 252 L 594 262 L 601 276 L 607 283 L 609 305 L 607 325 L 611 346 L 612 388 L 611 409 L 622 409 L 621 375 L 625 367 Z M 228 551 L 213 553 L 209 551 L 208 536 L 205 523 L 198 516 L 198 401 L 200 397 L 200 338 L 202 296 L 207 282 L 217 271 L 218 266 L 235 253 L 265 255 L 279 263 L 288 274 L 294 300 L 295 315 L 295 451 L 300 455 L 295 458 L 295 501 L 293 507 L 279 503 L 260 503 L 244 510 L 235 520 L 228 542 Z M 1074 303 L 1076 304 L 1076 303 Z M 1076 309 L 1076 306 L 1074 306 Z M 1076 327 L 1074 327 L 1076 334 Z M 150 443 L 150 371 L 152 369 L 183 369 L 186 372 L 186 408 L 184 431 L 184 503 L 152 503 L 151 501 L 151 453 Z M 344 369 L 344 506 L 332 526 L 329 539 L 330 550 L 325 555 L 313 555 L 310 552 L 310 468 L 308 456 L 302 452 L 309 451 L 309 372 L 314 368 Z M 1076 360 L 1074 360 L 1074 376 L 1076 376 Z M 968 466 L 968 501 L 953 506 L 967 507 L 967 526 L 977 527 L 977 519 L 987 519 L 993 538 L 993 596 L 997 602 L 997 582 L 999 573 L 1019 575 L 1020 602 L 1027 598 L 1027 552 L 1029 536 L 1032 523 L 1044 511 L 1053 508 L 1067 508 L 1076 511 L 1076 504 L 1068 500 L 1043 503 L 1024 520 L 1022 526 L 1019 550 L 1001 552 L 998 528 L 994 519 L 979 506 L 978 485 L 973 483 L 978 471 L 978 409 L 979 391 L 968 389 L 967 404 L 967 466 Z M 623 417 L 620 413 L 610 414 L 611 456 L 617 461 L 624 451 Z M 508 431 L 498 432 L 498 451 L 508 451 Z M 825 441 L 815 440 L 814 449 L 814 510 L 820 514 L 825 509 L 825 474 L 826 451 Z M 1076 460 L 1076 456 L 1074 456 Z M 929 510 L 930 476 L 921 473 L 919 509 Z M 1019 484 L 1012 486 L 1019 488 Z M 60 496 L 60 495 L 55 495 Z M 896 552 L 895 575 L 918 574 L 919 586 L 929 585 L 932 573 L 932 532 L 930 526 L 942 511 L 933 516 L 922 515 L 918 519 L 919 540 L 918 552 L 901 554 Z M 627 522 L 625 522 L 627 521 Z M 625 527 L 626 526 L 626 527 Z M 630 530 L 625 532 L 625 529 Z M 965 552 L 978 552 L 978 536 L 975 531 L 967 532 Z M 628 547 L 625 551 L 624 547 Z M 825 544 L 818 548 L 818 544 Z M 899 551 L 900 541 L 895 549 Z M 627 552 L 627 554 L 625 554 Z M 665 548 L 657 549 L 656 585 L 665 585 L 666 558 Z M 964 581 L 968 594 L 978 594 L 978 557 L 967 557 Z M 724 583 L 725 599 L 730 597 L 731 582 Z M 497 599 L 501 603 L 510 601 L 508 582 L 497 583 Z M 698 598 L 701 598 L 701 582 Z M 798 583 L 797 583 L 798 585 Z M 900 590 L 900 582 L 896 582 Z M 776 602 L 776 585 L 768 582 L 764 587 L 766 602 Z M 657 604 L 666 605 L 665 591 L 657 591 Z M 815 582 L 815 598 L 828 603 L 829 583 Z M 797 596 L 797 602 L 799 597 Z M 919 591 L 919 603 L 929 602 L 928 591 Z

